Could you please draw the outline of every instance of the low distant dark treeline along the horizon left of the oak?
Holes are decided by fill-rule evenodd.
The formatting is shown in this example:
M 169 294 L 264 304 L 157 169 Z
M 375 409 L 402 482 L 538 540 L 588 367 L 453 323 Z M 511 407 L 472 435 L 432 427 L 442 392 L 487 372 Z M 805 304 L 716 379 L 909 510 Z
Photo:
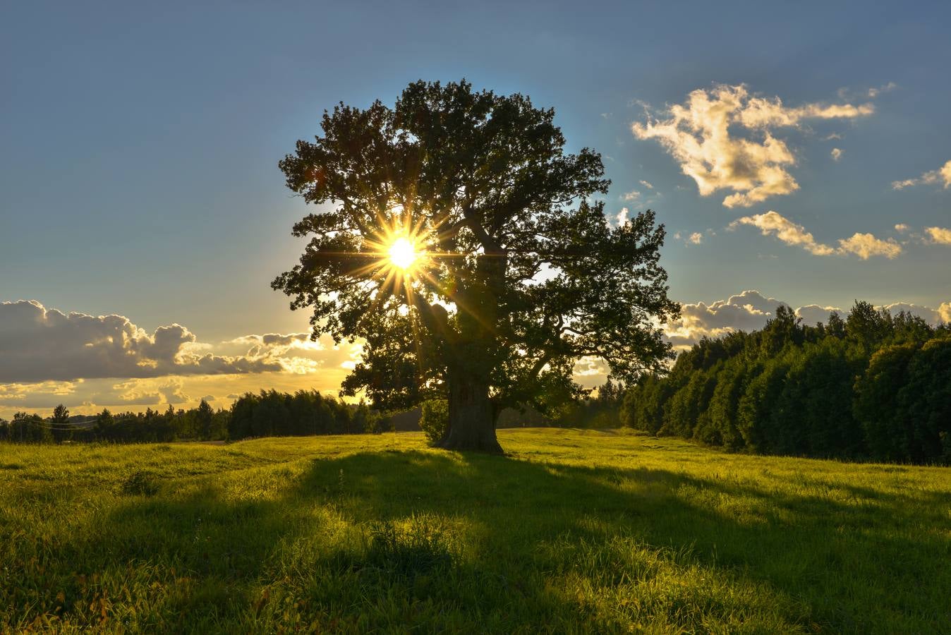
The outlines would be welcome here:
M 348 405 L 317 391 L 295 394 L 277 391 L 247 393 L 228 410 L 215 411 L 203 399 L 197 408 L 165 412 L 69 416 L 57 406 L 50 417 L 16 413 L 11 421 L 0 419 L 0 441 L 62 443 L 107 441 L 113 443 L 218 441 L 252 436 L 350 434 L 381 432 L 387 417 L 365 404 Z

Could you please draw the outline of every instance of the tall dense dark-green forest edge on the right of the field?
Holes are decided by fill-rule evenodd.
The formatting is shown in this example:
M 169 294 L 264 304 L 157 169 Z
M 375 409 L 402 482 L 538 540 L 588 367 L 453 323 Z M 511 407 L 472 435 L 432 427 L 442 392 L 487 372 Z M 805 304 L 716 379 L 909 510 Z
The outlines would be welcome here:
M 858 301 L 704 338 L 628 389 L 622 422 L 749 452 L 951 464 L 951 328 Z

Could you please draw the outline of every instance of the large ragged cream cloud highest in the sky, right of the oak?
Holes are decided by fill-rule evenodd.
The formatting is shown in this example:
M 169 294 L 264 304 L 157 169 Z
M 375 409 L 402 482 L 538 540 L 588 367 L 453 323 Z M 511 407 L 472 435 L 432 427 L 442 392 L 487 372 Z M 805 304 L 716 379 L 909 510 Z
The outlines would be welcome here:
M 854 119 L 874 112 L 863 104 L 806 104 L 788 107 L 778 98 L 752 96 L 747 87 L 719 85 L 692 91 L 666 117 L 650 115 L 631 125 L 638 139 L 655 139 L 697 184 L 701 196 L 726 189 L 728 207 L 749 206 L 789 194 L 799 183 L 787 171 L 796 164 L 777 127 L 798 127 L 806 119 Z M 739 129 L 746 136 L 736 134 Z

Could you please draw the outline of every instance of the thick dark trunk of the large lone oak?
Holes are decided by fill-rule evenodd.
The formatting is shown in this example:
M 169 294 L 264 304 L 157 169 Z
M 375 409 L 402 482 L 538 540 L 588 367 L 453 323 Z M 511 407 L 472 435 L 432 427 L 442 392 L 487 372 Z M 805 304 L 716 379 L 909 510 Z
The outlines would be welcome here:
M 501 454 L 489 382 L 463 369 L 449 369 L 449 427 L 437 446 Z

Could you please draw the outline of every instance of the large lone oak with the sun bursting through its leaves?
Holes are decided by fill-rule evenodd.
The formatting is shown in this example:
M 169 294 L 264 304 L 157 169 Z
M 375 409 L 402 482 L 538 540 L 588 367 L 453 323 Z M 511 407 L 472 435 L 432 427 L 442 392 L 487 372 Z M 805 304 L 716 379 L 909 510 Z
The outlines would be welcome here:
M 336 106 L 281 161 L 323 208 L 294 226 L 301 262 L 273 286 L 313 337 L 364 340 L 343 384 L 382 407 L 449 399 L 439 443 L 501 452 L 503 407 L 584 394 L 580 357 L 626 381 L 670 356 L 679 311 L 646 211 L 611 228 L 600 155 L 566 154 L 553 109 L 465 81 L 417 82 L 396 106 Z

